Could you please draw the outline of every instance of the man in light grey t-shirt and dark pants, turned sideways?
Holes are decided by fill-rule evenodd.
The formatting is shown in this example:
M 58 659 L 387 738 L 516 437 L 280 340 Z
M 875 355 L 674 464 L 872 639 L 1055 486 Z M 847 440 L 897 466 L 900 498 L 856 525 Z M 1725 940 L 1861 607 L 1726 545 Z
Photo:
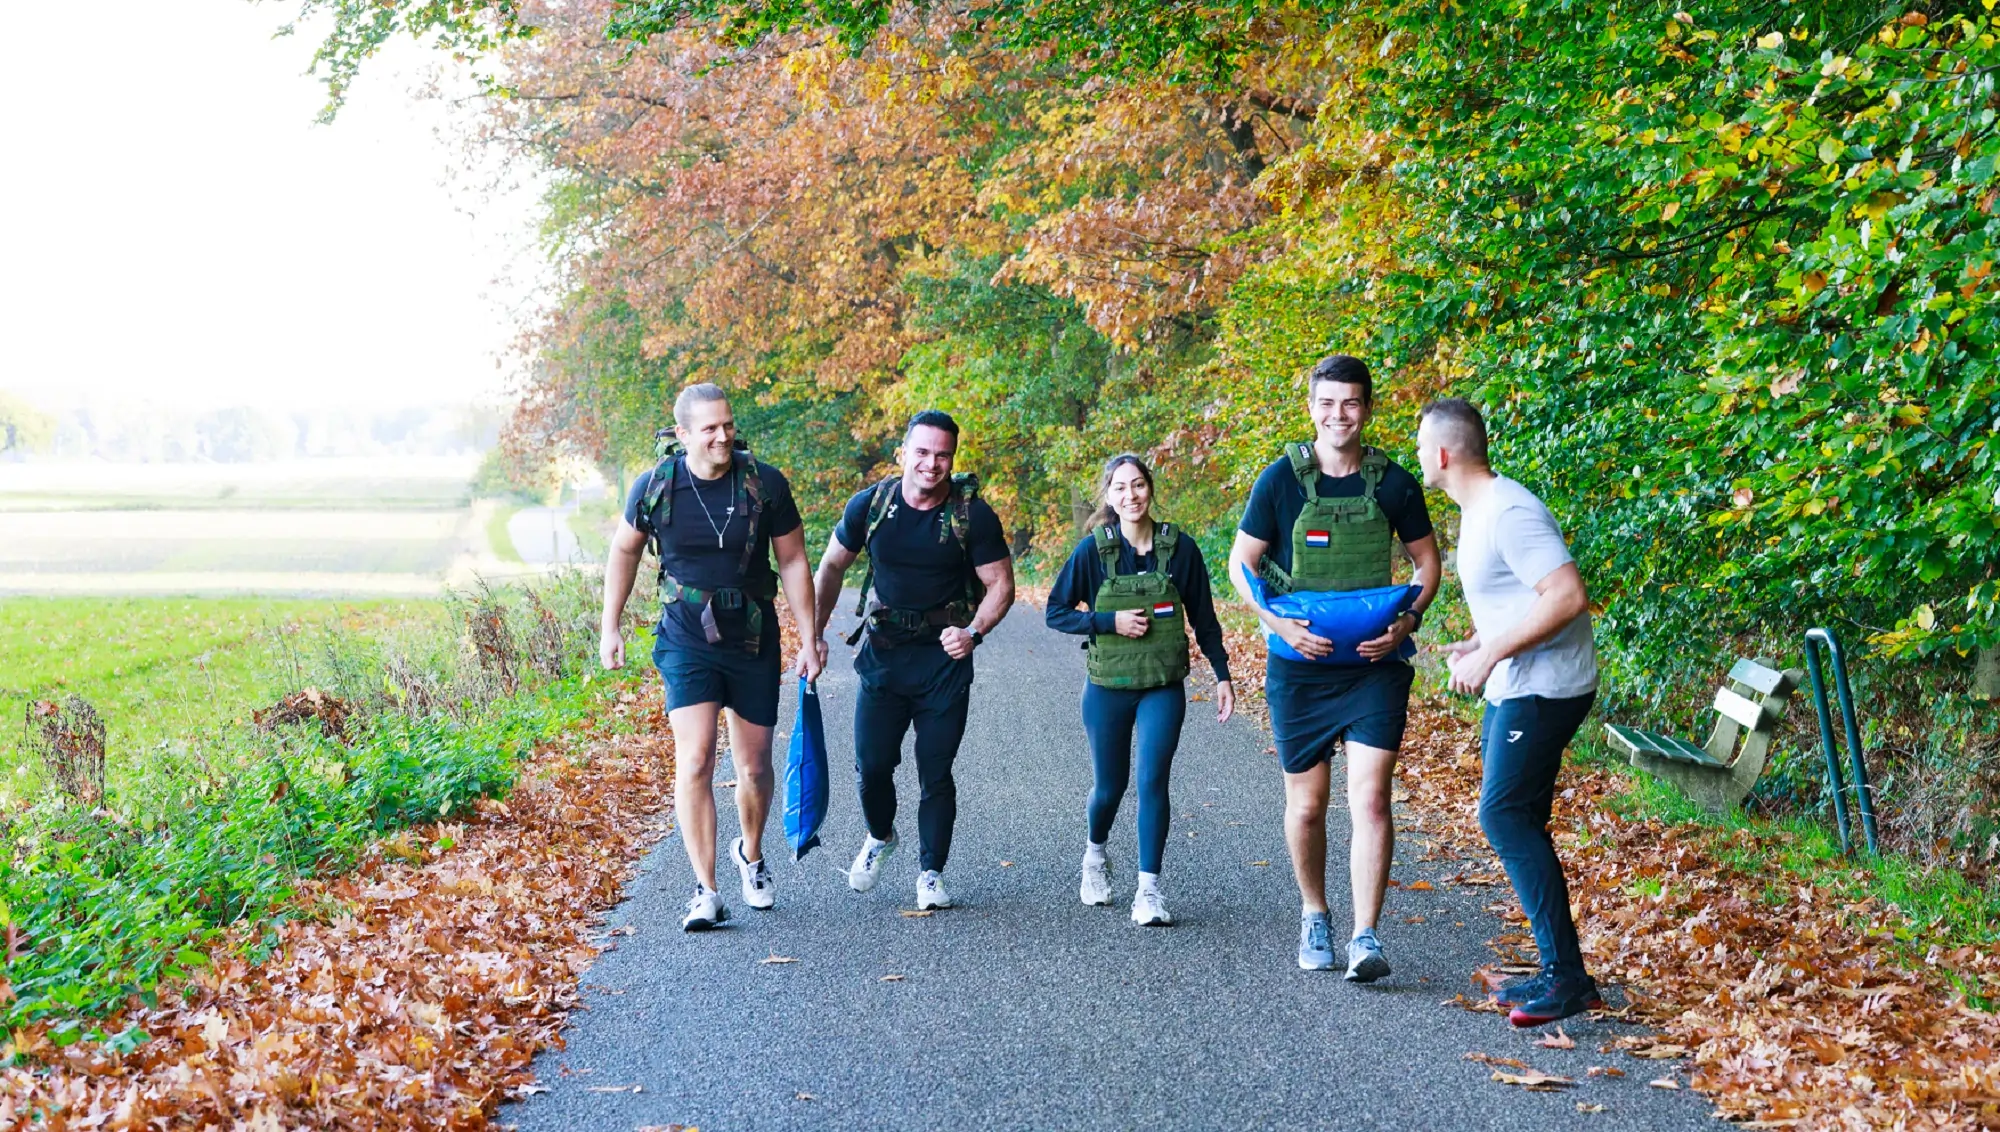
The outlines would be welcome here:
M 1486 464 L 1486 422 L 1460 398 L 1424 406 L 1416 456 L 1424 486 L 1452 498 L 1458 578 L 1472 636 L 1444 646 L 1452 690 L 1486 694 L 1480 828 L 1528 912 L 1542 970 L 1500 988 L 1516 1026 L 1602 1010 L 1570 918 L 1570 888 L 1548 836 L 1562 748 L 1598 696 L 1590 598 L 1542 500 Z

